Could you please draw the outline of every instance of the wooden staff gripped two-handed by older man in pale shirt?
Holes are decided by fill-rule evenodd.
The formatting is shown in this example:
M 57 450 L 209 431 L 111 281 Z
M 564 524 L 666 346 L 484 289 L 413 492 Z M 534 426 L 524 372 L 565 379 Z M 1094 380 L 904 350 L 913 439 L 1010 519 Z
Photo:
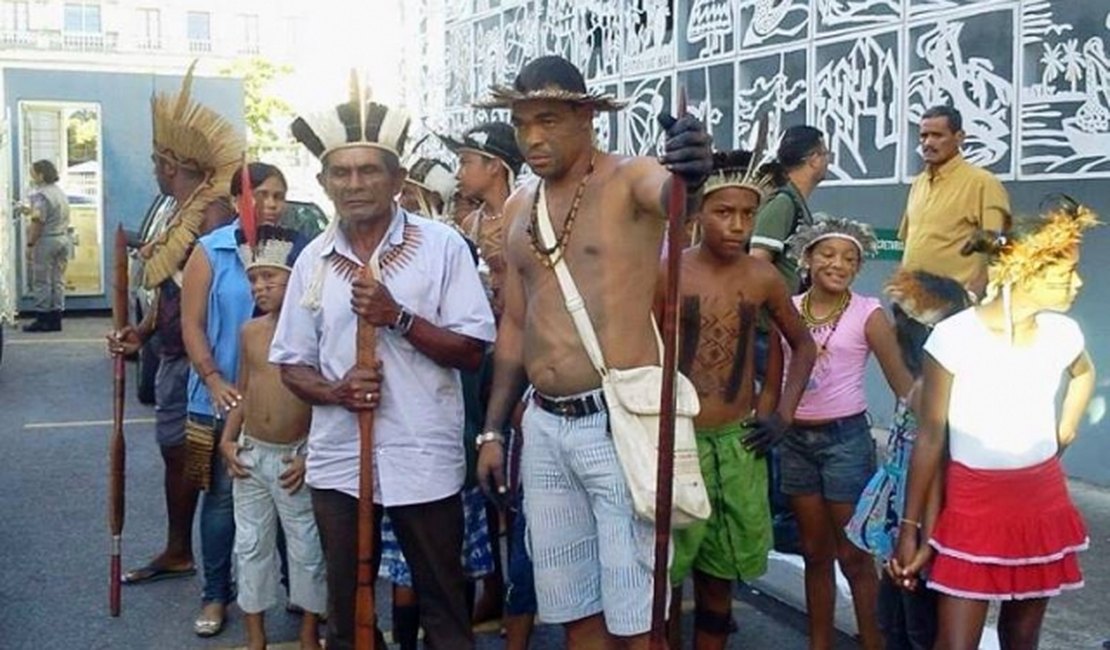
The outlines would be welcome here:
M 365 268 L 367 277 L 376 260 Z M 377 329 L 359 317 L 355 365 L 377 365 Z M 354 601 L 355 650 L 374 650 L 374 412 L 359 412 L 359 572 Z

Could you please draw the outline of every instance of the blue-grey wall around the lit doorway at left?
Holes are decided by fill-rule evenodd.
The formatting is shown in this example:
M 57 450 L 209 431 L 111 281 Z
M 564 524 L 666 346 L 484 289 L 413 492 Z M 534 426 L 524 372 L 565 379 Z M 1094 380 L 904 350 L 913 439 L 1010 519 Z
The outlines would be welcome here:
M 175 92 L 181 77 L 142 73 L 85 72 L 63 70 L 6 69 L 4 100 L 11 115 L 12 186 L 22 187 L 20 176 L 19 102 L 65 101 L 100 104 L 103 162 L 103 277 L 110 284 L 112 267 L 110 233 L 122 223 L 137 228 L 158 193 L 150 155 L 150 98 L 155 92 Z M 226 118 L 240 132 L 243 122 L 243 84 L 236 79 L 194 79 L 192 97 Z M 95 309 L 108 306 L 104 296 L 67 301 L 70 309 Z

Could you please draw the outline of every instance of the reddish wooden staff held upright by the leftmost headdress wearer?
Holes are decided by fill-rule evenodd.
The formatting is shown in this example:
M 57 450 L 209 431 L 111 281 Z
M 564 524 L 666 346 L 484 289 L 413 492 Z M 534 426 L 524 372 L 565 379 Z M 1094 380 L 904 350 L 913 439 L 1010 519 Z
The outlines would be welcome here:
M 122 332 L 128 326 L 128 240 L 123 226 L 115 228 L 112 267 L 112 326 Z M 123 465 L 127 446 L 123 440 L 123 355 L 112 357 L 112 433 L 108 439 L 108 529 L 112 535 L 108 577 L 108 613 L 120 616 L 120 550 L 123 538 Z

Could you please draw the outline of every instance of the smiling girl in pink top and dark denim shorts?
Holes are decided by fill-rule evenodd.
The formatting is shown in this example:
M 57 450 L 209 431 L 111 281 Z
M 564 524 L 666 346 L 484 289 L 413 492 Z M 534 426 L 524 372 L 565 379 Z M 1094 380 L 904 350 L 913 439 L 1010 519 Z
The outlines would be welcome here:
M 864 257 L 875 252 L 871 228 L 848 219 L 819 217 L 799 227 L 787 246 L 809 275 L 809 288 L 793 299 L 817 344 L 794 430 L 780 450 L 781 489 L 798 520 L 805 559 L 810 647 L 833 647 L 834 567 L 839 562 L 851 587 L 860 644 L 878 650 L 878 573 L 870 555 L 844 532 L 876 467 L 864 390 L 868 357 L 875 354 L 898 397 L 909 393 L 914 379 L 878 298 L 851 291 Z

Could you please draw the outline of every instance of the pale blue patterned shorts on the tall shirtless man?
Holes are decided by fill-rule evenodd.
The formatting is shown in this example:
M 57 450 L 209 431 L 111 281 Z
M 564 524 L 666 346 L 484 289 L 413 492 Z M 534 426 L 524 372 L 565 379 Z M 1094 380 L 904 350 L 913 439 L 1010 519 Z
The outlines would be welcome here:
M 521 476 L 539 619 L 604 612 L 618 637 L 652 627 L 655 526 L 636 517 L 608 415 L 524 412 Z

